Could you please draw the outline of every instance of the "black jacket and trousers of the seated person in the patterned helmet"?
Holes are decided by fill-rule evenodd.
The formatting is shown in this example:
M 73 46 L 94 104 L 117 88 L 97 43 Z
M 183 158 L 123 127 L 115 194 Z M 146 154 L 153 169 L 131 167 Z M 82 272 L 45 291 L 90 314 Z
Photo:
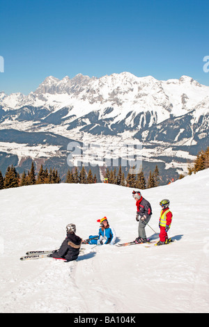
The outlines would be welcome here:
M 68 261 L 77 260 L 81 245 L 82 239 L 74 232 L 70 232 L 67 234 L 67 237 L 63 241 L 63 244 L 59 250 L 52 254 L 52 257 L 56 259 L 65 259 Z

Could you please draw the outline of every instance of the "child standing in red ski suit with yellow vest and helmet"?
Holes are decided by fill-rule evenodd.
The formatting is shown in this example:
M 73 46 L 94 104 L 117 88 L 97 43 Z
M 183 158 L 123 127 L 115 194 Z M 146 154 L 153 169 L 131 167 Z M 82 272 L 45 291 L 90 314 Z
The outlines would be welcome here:
M 160 206 L 162 207 L 162 211 L 160 213 L 160 221 L 159 221 L 159 227 L 160 227 L 160 241 L 157 242 L 157 246 L 167 244 L 168 242 L 168 234 L 171 227 L 171 221 L 173 214 L 169 209 L 170 201 L 167 199 L 164 199 L 160 202 Z

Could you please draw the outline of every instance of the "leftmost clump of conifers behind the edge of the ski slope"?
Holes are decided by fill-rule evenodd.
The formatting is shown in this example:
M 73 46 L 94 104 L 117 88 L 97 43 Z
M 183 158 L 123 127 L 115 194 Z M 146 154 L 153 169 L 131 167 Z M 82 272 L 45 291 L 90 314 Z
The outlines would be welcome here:
M 35 184 L 58 184 L 61 178 L 57 170 L 50 168 L 43 169 L 42 165 L 38 175 L 35 173 L 34 163 L 31 163 L 31 169 L 26 173 L 25 171 L 20 175 L 17 173 L 15 167 L 8 166 L 6 174 L 3 177 L 0 170 L 0 189 L 10 189 L 18 186 L 27 186 Z

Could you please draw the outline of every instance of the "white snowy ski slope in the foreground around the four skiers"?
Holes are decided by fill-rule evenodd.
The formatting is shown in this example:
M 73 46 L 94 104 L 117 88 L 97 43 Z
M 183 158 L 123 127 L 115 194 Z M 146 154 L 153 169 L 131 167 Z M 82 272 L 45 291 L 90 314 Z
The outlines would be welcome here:
M 52 184 L 0 191 L 0 312 L 208 312 L 209 169 L 142 192 L 153 207 L 171 201 L 167 246 L 83 246 L 77 262 L 21 262 L 28 250 L 59 248 L 65 226 L 86 239 L 107 216 L 117 241 L 137 237 L 132 189 L 111 184 Z M 155 237 L 148 226 L 148 237 Z

